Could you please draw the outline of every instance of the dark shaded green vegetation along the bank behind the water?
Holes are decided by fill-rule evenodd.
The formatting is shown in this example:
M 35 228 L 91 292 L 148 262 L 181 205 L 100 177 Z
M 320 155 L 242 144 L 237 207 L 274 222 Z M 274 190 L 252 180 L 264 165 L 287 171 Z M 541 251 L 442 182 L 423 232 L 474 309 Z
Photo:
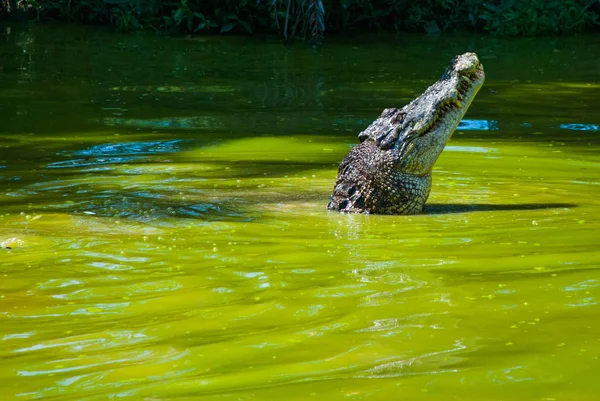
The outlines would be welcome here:
M 278 33 L 471 30 L 529 36 L 598 28 L 600 0 L 0 0 L 0 20 L 110 24 L 120 31 Z

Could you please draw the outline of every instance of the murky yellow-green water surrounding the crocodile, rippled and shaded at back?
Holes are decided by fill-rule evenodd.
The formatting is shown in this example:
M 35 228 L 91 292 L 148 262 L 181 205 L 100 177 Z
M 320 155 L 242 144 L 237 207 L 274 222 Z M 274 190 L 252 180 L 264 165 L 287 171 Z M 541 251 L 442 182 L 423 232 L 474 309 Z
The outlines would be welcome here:
M 597 37 L 0 28 L 3 400 L 600 398 Z M 468 50 L 427 213 L 327 212 Z

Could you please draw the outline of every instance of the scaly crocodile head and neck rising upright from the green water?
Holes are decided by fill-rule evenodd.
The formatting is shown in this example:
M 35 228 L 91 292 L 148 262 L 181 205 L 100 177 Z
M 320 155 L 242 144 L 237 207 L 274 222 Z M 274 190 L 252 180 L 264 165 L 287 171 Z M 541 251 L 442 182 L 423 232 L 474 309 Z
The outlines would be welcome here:
M 475 53 L 458 55 L 421 96 L 401 109 L 385 109 L 340 163 L 327 208 L 421 213 L 431 191 L 433 165 L 484 80 Z

